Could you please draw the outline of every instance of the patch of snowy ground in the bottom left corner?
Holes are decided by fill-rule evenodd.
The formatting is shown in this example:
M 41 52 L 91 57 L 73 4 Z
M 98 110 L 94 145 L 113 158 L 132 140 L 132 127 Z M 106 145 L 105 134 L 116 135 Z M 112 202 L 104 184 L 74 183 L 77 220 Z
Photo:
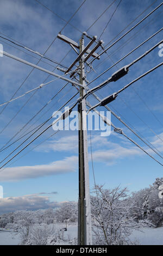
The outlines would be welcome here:
M 0 229 L 0 245 L 18 245 L 20 237 L 17 234 L 12 234 L 10 231 Z

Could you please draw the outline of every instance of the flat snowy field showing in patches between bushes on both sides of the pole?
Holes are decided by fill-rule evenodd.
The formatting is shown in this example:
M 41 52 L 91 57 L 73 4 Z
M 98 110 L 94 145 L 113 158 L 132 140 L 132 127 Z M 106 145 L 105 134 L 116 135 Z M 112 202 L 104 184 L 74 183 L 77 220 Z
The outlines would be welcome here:
M 62 225 L 57 225 L 62 228 Z M 64 227 L 64 225 L 63 225 Z M 67 231 L 64 231 L 65 239 L 74 239 L 77 237 L 77 225 L 70 225 Z M 131 241 L 139 240 L 140 245 L 163 245 L 163 227 L 161 228 L 142 228 L 140 231 L 134 230 L 130 235 Z M 18 245 L 20 238 L 17 234 L 11 234 L 9 231 L 0 229 L 0 245 Z

